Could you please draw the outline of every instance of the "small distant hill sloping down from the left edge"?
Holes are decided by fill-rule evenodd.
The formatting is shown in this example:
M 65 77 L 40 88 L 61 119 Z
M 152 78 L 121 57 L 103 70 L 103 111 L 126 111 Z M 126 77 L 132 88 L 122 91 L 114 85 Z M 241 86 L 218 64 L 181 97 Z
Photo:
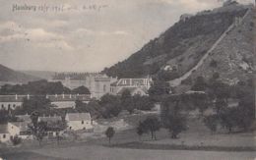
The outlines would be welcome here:
M 40 80 L 39 78 L 14 71 L 0 64 L 0 81 L 9 83 L 25 83 L 32 80 Z

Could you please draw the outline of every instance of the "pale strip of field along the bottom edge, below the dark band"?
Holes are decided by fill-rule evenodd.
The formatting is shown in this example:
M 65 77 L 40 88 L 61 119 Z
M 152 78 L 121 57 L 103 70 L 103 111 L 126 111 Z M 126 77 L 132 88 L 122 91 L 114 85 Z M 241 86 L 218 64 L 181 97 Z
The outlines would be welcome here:
M 253 160 L 256 157 L 254 152 L 121 149 L 99 145 L 45 148 L 35 153 L 81 160 Z

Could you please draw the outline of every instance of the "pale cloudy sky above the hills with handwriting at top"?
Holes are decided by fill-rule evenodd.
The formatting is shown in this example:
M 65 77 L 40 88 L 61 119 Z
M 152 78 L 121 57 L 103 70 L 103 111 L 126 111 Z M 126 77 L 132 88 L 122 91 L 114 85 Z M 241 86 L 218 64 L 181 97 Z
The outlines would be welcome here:
M 253 0 L 241 0 L 242 3 Z M 99 72 L 218 0 L 0 0 L 0 64 Z

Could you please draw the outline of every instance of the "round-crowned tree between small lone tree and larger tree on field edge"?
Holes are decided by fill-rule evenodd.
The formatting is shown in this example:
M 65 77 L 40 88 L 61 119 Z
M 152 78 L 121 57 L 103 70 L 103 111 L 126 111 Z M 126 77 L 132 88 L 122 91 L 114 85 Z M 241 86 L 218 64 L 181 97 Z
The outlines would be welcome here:
M 144 133 L 151 133 L 152 139 L 157 139 L 156 132 L 160 130 L 160 121 L 157 117 L 148 117 L 143 123 L 142 123 L 142 130 Z

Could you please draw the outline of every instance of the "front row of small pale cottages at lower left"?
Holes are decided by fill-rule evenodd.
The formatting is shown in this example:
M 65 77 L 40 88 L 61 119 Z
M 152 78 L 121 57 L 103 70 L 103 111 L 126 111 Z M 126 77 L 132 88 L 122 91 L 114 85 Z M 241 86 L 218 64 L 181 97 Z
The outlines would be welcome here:
M 9 122 L 6 125 L 0 126 L 0 142 L 8 142 L 14 136 L 22 139 L 32 139 L 32 131 L 29 126 L 32 125 L 30 115 L 18 116 L 18 122 Z M 66 122 L 66 127 L 59 130 L 58 124 Z M 94 130 L 94 122 L 89 113 L 68 113 L 65 120 L 60 116 L 39 117 L 38 122 L 47 124 L 47 137 L 55 137 L 65 132 L 85 131 L 92 132 Z M 52 125 L 54 124 L 54 125 Z

